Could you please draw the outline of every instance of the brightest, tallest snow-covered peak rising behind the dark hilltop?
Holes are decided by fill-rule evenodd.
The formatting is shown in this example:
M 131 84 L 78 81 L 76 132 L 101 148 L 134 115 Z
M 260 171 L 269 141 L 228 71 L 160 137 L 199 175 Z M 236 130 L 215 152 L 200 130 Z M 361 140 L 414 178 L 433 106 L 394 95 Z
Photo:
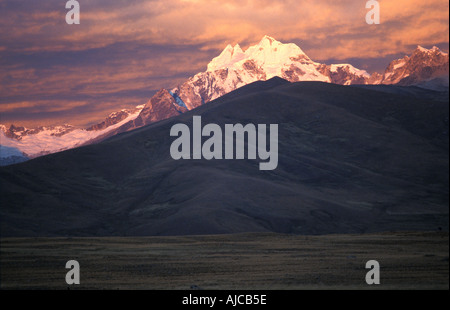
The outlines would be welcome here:
M 174 88 L 193 109 L 241 86 L 275 76 L 290 82 L 321 81 L 343 85 L 367 84 L 370 75 L 350 64 L 325 65 L 314 62 L 293 43 L 283 44 L 265 36 L 245 52 L 239 44 L 228 45 L 214 58 L 205 72 L 196 74 Z

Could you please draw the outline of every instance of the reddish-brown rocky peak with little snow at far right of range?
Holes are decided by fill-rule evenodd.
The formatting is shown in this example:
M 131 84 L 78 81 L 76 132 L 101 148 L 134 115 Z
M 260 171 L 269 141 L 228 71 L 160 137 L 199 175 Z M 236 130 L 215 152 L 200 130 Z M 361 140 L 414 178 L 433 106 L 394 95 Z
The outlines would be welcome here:
M 373 84 L 415 85 L 449 74 L 448 54 L 438 47 L 418 46 L 411 56 L 392 61 Z

